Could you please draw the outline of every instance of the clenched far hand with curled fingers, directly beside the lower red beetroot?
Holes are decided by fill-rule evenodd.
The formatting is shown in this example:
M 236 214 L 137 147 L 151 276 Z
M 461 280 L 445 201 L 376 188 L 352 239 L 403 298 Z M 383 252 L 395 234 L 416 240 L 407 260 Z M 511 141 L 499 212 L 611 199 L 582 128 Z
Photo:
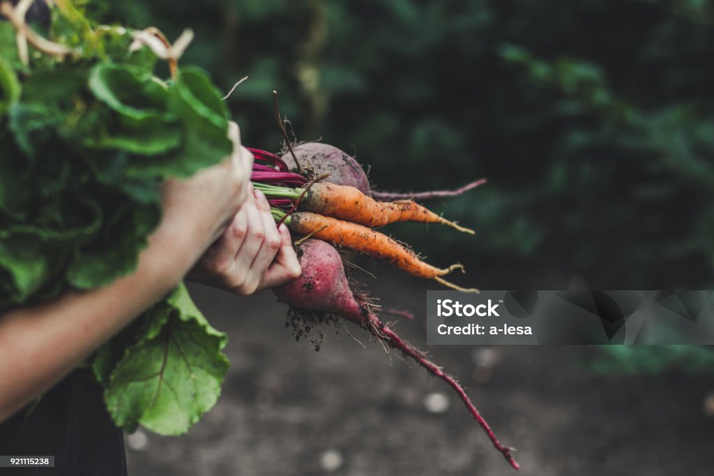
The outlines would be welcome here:
M 300 274 L 288 228 L 285 224 L 276 227 L 268 200 L 255 190 L 188 279 L 248 295 L 296 279 Z

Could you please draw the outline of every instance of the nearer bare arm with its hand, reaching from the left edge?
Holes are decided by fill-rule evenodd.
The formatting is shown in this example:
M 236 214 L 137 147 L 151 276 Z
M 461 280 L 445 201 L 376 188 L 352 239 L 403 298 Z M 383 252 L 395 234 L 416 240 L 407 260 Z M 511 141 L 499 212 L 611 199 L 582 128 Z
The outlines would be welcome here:
M 164 217 L 133 274 L 0 316 L 0 422 L 161 299 L 223 235 L 248 196 L 252 164 L 236 124 L 230 134 L 236 144 L 232 157 L 164 185 Z

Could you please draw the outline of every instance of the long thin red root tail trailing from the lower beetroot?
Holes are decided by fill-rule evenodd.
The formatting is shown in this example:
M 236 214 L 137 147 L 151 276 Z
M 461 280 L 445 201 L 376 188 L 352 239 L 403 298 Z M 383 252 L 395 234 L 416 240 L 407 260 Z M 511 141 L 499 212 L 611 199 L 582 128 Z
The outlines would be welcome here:
M 412 347 L 411 344 L 408 344 L 403 339 L 401 339 L 401 337 L 399 337 L 392 329 L 390 329 L 388 325 L 383 324 L 383 322 L 381 322 L 381 320 L 379 320 L 376 315 L 369 313 L 368 319 L 370 322 L 370 327 L 368 327 L 367 330 L 369 332 L 374 334 L 378 339 L 381 339 L 383 342 L 386 342 L 386 344 L 388 344 L 393 349 L 397 349 L 408 355 L 419 365 L 421 365 L 421 367 L 424 367 L 426 370 L 428 370 L 431 375 L 440 378 L 441 380 L 446 382 L 451 388 L 453 388 L 453 390 L 461 398 L 463 405 L 466 405 L 468 412 L 471 413 L 471 416 L 473 416 L 473 418 L 478 422 L 478 425 L 481 425 L 483 431 L 486 432 L 486 435 L 488 435 L 488 439 L 491 440 L 491 443 L 493 443 L 493 447 L 496 447 L 496 450 L 501 452 L 503 457 L 506 458 L 506 461 L 508 461 L 508 464 L 510 464 L 514 469 L 518 470 L 518 462 L 516 462 L 516 460 L 513 458 L 513 455 L 511 455 L 513 448 L 501 445 L 501 442 L 498 441 L 498 438 L 493 433 L 493 430 L 491 430 L 491 427 L 488 426 L 488 422 L 484 420 L 484 418 L 481 416 L 481 413 L 479 413 L 473 403 L 471 403 L 471 400 L 468 398 L 468 395 L 466 395 L 466 392 L 463 390 L 463 387 L 461 387 L 461 385 L 456 382 L 456 380 L 451 377 L 451 375 L 448 375 L 446 372 L 441 370 L 441 367 L 428 360 L 422 352 L 419 352 L 418 349 Z

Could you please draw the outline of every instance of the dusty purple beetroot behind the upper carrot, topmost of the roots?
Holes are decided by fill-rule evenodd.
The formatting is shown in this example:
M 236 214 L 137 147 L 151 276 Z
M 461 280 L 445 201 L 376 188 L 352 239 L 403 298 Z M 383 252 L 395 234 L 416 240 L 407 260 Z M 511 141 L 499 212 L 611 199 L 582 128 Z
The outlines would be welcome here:
M 369 194 L 369 180 L 360 164 L 337 147 L 320 142 L 308 142 L 294 147 L 293 151 L 303 172 L 314 172 L 316 177 L 330 174 L 326 179 L 327 182 L 351 185 L 363 194 Z M 283 155 L 281 159 L 288 164 L 291 172 L 298 171 L 290 152 Z

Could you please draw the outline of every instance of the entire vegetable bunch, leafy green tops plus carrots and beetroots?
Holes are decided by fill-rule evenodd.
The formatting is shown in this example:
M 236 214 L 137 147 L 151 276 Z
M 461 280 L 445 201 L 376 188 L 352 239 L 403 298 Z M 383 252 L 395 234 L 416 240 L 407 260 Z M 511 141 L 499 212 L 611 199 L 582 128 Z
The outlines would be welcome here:
M 0 22 L 0 312 L 134 271 L 161 220 L 161 183 L 216 164 L 232 149 L 221 94 L 205 72 L 178 68 L 190 32 L 171 44 L 156 29 L 95 25 L 68 0 L 52 2 L 51 24 L 42 29 L 26 24 L 30 5 L 0 2 L 9 19 Z M 171 79 L 154 75 L 157 59 L 169 61 Z M 293 322 L 309 326 L 341 317 L 413 358 L 456 390 L 493 445 L 518 467 L 453 377 L 381 322 L 368 297 L 351 290 L 335 248 L 475 291 L 443 279 L 461 265 L 427 264 L 373 227 L 411 220 L 471 230 L 408 197 L 370 197 L 361 167 L 338 149 L 287 144 L 283 157 L 253 149 L 252 181 L 276 221 L 302 236 L 296 247 L 303 275 L 276 289 L 293 307 Z M 225 334 L 208 324 L 181 285 L 89 365 L 116 425 L 178 435 L 215 404 L 228 368 L 225 344 Z

